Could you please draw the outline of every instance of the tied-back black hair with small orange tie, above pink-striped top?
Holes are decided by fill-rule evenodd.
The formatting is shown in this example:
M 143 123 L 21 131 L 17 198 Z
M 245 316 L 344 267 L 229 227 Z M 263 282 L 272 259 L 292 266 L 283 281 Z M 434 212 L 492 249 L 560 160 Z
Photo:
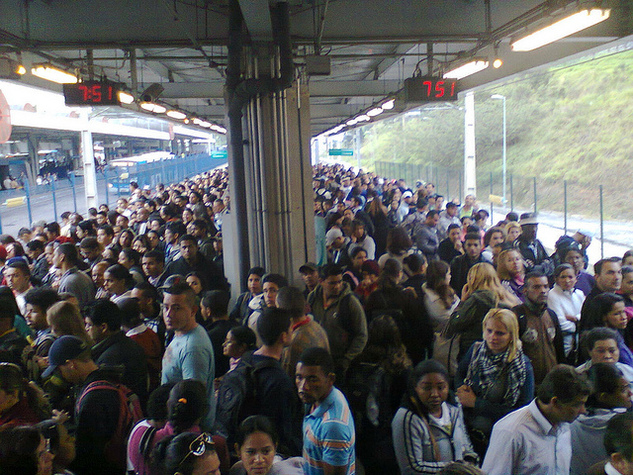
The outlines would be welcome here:
M 179 381 L 169 392 L 167 401 L 169 422 L 176 434 L 190 429 L 209 412 L 207 389 L 201 381 Z

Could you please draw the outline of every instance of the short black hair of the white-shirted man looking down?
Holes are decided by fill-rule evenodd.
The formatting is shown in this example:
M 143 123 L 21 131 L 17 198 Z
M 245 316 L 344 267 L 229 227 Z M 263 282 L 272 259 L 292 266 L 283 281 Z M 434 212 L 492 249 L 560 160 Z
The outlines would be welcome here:
M 554 366 L 538 387 L 536 397 L 543 404 L 549 404 L 552 398 L 559 402 L 570 403 L 579 396 L 589 396 L 591 385 L 587 376 L 573 366 L 559 364 Z

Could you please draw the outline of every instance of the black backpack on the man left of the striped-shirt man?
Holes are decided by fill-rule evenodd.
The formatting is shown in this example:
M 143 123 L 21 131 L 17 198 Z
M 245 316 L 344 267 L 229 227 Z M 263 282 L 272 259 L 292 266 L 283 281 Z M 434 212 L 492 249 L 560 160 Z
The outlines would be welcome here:
M 258 373 L 278 364 L 271 358 L 254 363 L 252 356 L 252 353 L 244 354 L 237 367 L 224 375 L 218 389 L 216 423 L 227 437 L 229 446 L 240 423 L 248 416 L 258 414 Z M 279 403 L 284 404 L 284 401 Z

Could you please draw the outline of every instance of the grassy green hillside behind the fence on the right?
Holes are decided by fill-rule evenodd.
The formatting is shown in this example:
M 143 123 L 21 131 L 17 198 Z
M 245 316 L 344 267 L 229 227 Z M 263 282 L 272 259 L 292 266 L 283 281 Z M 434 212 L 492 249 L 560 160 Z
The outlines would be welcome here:
M 628 205 L 633 155 L 633 51 L 575 65 L 529 72 L 475 94 L 478 188 L 501 194 L 502 94 L 507 100 L 507 163 L 515 203 L 562 210 L 563 180 L 575 212 L 597 214 L 598 186 L 605 211 L 633 219 Z M 443 110 L 423 108 L 362 130 L 363 166 L 377 161 L 463 166 L 463 101 Z M 480 191 L 480 195 L 483 193 Z

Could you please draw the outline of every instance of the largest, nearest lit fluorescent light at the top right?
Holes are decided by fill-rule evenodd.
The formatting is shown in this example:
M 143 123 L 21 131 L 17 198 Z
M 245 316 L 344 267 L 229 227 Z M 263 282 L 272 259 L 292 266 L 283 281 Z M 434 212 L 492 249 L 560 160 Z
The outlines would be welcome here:
M 512 43 L 512 51 L 532 51 L 600 23 L 611 14 L 606 8 L 581 10 Z

